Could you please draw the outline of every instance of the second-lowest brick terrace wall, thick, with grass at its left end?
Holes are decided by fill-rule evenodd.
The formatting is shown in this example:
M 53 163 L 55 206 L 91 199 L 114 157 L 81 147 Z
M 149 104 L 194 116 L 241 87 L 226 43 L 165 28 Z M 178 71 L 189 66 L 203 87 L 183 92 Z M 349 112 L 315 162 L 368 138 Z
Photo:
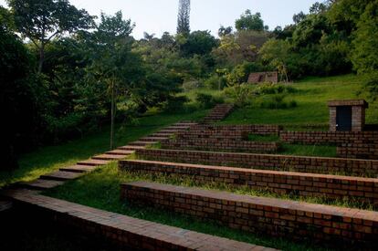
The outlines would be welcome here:
M 373 211 L 147 182 L 121 184 L 121 198 L 252 233 L 378 248 L 378 212 Z

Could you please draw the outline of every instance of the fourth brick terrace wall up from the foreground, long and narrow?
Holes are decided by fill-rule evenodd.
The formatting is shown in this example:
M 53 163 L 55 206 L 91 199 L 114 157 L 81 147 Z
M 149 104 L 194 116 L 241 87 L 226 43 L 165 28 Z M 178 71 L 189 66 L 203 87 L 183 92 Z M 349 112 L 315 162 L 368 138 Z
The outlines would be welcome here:
M 187 162 L 299 173 L 348 173 L 378 178 L 378 161 L 275 154 L 203 152 L 184 150 L 138 150 L 137 156 L 163 162 Z

